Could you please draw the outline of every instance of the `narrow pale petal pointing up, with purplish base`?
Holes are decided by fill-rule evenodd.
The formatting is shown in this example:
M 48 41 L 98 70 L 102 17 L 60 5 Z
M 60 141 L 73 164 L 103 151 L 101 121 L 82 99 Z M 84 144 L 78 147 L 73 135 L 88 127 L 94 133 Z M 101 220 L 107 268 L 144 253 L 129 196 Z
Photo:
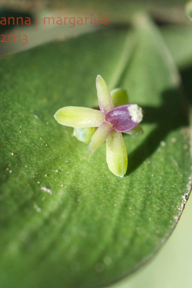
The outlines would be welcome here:
M 96 88 L 100 110 L 106 114 L 109 110 L 114 108 L 114 105 L 111 99 L 111 93 L 101 75 L 97 75 Z

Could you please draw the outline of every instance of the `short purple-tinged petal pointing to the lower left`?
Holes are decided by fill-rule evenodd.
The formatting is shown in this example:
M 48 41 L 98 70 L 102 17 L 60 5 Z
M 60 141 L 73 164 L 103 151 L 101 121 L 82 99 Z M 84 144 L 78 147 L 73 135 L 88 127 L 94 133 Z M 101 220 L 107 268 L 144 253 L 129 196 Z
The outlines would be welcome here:
M 107 139 L 112 131 L 113 126 L 109 122 L 103 122 L 91 138 L 89 151 L 94 153 L 96 149 Z

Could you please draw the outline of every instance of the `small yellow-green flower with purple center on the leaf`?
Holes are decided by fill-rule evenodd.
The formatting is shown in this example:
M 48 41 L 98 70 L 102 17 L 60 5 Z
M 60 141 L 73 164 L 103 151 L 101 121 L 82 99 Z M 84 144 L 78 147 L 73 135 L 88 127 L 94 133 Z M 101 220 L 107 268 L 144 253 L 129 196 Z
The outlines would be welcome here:
M 142 134 L 139 123 L 143 119 L 142 108 L 137 104 L 127 104 L 126 91 L 120 88 L 110 93 L 104 79 L 96 78 L 97 96 L 100 110 L 84 107 L 63 107 L 54 117 L 65 126 L 74 127 L 74 136 L 89 143 L 89 151 L 106 141 L 106 160 L 112 173 L 123 177 L 127 170 L 127 151 L 122 132 Z

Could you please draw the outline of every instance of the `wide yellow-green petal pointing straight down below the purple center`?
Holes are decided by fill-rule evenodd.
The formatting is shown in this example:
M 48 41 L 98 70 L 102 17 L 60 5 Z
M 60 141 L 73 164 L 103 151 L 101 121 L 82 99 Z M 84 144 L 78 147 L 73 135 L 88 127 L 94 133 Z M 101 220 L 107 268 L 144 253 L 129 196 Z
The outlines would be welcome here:
M 109 170 L 119 177 L 127 171 L 127 150 L 121 132 L 113 131 L 106 140 L 106 160 Z

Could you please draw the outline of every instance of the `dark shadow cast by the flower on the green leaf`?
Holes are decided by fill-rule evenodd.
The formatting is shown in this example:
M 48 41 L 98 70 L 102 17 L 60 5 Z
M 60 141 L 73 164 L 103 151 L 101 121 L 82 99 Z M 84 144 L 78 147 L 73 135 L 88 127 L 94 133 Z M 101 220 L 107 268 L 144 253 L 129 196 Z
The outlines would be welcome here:
M 188 124 L 188 106 L 182 99 L 181 89 L 167 90 L 162 93 L 160 107 L 146 106 L 142 123 L 157 123 L 157 127 L 130 155 L 128 155 L 128 167 L 126 176 L 136 170 L 158 148 L 165 137 L 179 127 Z

